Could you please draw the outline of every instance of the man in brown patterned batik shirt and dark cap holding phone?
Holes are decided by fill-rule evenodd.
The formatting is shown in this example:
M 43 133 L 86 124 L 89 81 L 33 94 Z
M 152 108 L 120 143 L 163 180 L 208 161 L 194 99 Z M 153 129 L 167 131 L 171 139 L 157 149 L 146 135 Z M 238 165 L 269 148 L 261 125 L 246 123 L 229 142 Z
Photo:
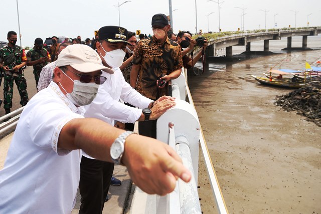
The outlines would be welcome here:
M 181 47 L 167 36 L 171 26 L 164 14 L 151 19 L 153 36 L 141 40 L 133 54 L 130 85 L 143 96 L 156 100 L 168 94 L 168 82 L 181 74 Z M 158 85 L 158 80 L 165 80 Z M 139 122 L 139 134 L 156 138 L 156 120 Z

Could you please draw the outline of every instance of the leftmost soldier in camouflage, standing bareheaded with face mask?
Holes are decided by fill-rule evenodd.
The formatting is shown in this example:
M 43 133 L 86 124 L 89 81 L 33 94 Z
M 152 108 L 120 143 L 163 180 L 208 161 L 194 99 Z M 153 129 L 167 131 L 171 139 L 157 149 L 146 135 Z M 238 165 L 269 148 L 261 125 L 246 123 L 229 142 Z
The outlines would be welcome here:
M 19 94 L 20 104 L 25 106 L 28 101 L 27 82 L 22 69 L 27 63 L 25 50 L 16 45 L 17 33 L 14 31 L 8 32 L 8 45 L 0 49 L 0 68 L 3 68 L 5 73 L 4 81 L 4 108 L 6 114 L 11 112 L 12 97 L 14 94 L 14 81 L 16 82 Z M 9 119 L 6 119 L 9 120 Z M 6 121 L 5 120 L 5 121 Z

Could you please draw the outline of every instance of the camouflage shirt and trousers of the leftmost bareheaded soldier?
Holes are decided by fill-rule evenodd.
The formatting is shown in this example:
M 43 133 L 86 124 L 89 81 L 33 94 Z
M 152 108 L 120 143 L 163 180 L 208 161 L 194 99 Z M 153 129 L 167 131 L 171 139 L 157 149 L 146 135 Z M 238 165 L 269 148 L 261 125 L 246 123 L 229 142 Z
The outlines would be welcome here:
M 11 48 L 7 45 L 0 49 L 0 63 L 4 63 L 4 66 L 8 66 L 9 69 L 13 69 L 16 65 L 20 65 L 25 61 L 27 61 L 26 53 L 25 50 L 20 46 L 15 45 L 14 48 Z M 29 98 L 24 71 L 22 69 L 20 69 L 18 72 L 13 70 L 6 71 L 4 79 L 4 108 L 12 108 L 14 81 L 16 82 L 20 94 L 20 104 L 22 106 L 27 105 Z

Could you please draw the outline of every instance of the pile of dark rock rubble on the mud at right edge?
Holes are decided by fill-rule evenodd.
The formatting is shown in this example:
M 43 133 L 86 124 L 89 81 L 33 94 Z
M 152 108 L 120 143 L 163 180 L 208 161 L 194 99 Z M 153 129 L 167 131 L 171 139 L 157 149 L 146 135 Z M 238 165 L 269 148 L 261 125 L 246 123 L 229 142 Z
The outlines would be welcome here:
M 274 104 L 281 106 L 285 111 L 296 111 L 297 114 L 321 126 L 321 83 L 276 96 Z

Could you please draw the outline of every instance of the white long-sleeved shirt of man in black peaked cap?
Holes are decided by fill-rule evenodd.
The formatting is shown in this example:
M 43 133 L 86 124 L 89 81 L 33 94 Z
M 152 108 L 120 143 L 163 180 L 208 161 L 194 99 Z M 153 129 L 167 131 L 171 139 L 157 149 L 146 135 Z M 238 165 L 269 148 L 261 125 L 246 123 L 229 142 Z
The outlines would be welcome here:
M 97 97 L 92 103 L 84 106 L 86 109 L 84 116 L 98 118 L 112 126 L 115 120 L 122 123 L 135 123 L 141 116 L 142 109 L 148 108 L 152 100 L 133 89 L 125 81 L 119 68 L 112 68 L 112 70 L 114 74 L 102 72 L 102 76 L 107 80 L 99 86 Z M 119 102 L 120 99 L 139 109 Z M 83 155 L 93 159 L 85 152 Z

